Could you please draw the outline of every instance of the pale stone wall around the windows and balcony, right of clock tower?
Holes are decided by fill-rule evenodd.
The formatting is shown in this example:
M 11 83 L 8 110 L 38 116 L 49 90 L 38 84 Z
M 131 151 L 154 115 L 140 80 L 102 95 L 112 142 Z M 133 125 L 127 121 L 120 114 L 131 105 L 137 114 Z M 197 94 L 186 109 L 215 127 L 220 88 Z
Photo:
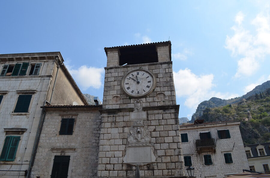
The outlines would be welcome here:
M 219 139 L 217 130 L 229 130 L 231 138 Z M 216 152 L 198 154 L 195 142 L 200 132 L 211 132 L 211 137 L 217 139 Z M 195 168 L 194 177 L 224 177 L 225 174 L 242 173 L 243 169 L 249 170 L 244 144 L 238 123 L 206 124 L 180 127 L 180 133 L 188 134 L 188 142 L 182 143 L 183 156 L 191 156 L 192 167 Z M 231 153 L 233 163 L 225 163 L 224 153 Z M 203 155 L 210 154 L 212 165 L 205 165 Z M 184 172 L 187 166 L 184 166 Z

